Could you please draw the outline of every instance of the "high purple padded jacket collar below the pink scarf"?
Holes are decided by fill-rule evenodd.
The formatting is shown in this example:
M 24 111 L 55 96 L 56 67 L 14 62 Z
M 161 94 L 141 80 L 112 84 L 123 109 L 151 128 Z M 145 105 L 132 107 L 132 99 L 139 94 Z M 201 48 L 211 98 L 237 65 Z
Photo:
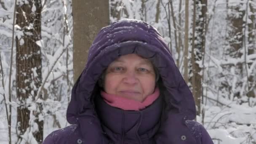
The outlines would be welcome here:
M 163 99 L 159 96 L 150 106 L 140 111 L 125 111 L 107 104 L 101 96 L 95 98 L 96 111 L 102 129 L 116 143 L 151 139 L 160 125 Z

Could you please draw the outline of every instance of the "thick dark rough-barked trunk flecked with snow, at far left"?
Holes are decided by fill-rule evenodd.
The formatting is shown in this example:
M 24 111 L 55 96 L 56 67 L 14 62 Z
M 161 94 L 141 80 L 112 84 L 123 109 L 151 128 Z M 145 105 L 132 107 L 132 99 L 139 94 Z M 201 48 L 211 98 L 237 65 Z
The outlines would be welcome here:
M 28 107 L 31 105 L 26 102 L 35 101 L 38 88 L 42 83 L 41 50 L 36 44 L 37 40 L 41 40 L 41 10 L 41 0 L 29 0 L 28 3 L 17 4 L 16 24 L 21 27 L 23 32 L 21 37 L 16 37 L 16 92 L 17 99 L 21 104 L 17 108 L 18 142 L 27 141 L 21 135 L 27 129 L 35 126 L 29 124 L 31 112 Z M 39 121 L 38 118 L 41 109 L 39 104 L 37 109 L 32 112 L 38 126 L 38 130 L 32 131 L 32 133 L 38 143 L 43 142 L 43 121 Z

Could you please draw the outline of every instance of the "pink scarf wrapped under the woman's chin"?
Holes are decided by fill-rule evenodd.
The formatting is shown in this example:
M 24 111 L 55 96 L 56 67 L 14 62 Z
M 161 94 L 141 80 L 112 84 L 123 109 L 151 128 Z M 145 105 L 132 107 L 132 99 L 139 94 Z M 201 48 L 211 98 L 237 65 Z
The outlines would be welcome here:
M 146 108 L 150 104 L 152 104 L 158 97 L 159 97 L 159 88 L 155 88 L 155 92 L 151 95 L 147 96 L 144 101 L 135 101 L 133 99 L 127 99 L 122 96 L 115 96 L 112 94 L 108 94 L 104 91 L 101 91 L 101 97 L 107 104 L 111 105 L 112 107 L 117 107 L 123 110 L 135 110 L 139 111 L 141 109 Z

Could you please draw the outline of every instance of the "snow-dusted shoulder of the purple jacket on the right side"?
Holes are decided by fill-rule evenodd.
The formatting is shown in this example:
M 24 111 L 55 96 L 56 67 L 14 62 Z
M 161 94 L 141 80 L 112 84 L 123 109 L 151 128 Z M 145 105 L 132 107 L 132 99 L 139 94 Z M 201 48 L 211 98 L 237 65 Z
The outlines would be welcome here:
M 186 125 L 200 144 L 213 144 L 211 136 L 208 134 L 202 124 L 194 120 L 186 120 Z

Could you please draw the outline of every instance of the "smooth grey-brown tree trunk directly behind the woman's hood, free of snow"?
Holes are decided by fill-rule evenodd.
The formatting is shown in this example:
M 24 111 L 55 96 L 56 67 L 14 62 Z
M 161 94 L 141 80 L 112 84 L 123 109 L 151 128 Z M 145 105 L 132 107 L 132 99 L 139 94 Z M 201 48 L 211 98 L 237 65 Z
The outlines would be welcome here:
M 109 25 L 108 0 L 73 0 L 73 67 L 76 81 L 85 67 L 89 48 L 102 27 Z M 81 55 L 82 54 L 82 55 Z

